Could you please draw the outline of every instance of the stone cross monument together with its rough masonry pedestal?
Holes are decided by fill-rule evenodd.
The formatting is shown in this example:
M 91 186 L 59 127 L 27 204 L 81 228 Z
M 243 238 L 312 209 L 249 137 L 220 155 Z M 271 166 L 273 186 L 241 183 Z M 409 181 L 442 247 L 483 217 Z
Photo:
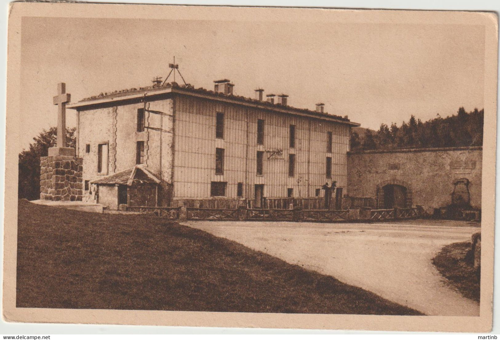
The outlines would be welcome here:
M 66 103 L 71 96 L 66 84 L 57 84 L 54 105 L 58 105 L 57 146 L 48 149 L 48 156 L 40 157 L 40 199 L 81 200 L 83 158 L 75 157 L 75 149 L 66 147 Z

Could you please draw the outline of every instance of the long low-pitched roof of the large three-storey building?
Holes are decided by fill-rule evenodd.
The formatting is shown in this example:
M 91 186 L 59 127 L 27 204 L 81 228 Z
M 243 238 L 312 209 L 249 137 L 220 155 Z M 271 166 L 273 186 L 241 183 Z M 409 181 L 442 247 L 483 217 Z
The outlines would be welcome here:
M 260 105 L 268 106 L 270 109 L 272 109 L 272 107 L 282 107 L 282 108 L 287 108 L 287 109 L 290 109 L 293 111 L 308 113 L 311 115 L 330 117 L 330 118 L 335 118 L 337 120 L 343 120 L 345 122 L 350 122 L 350 120 L 348 118 L 342 117 L 340 115 L 329 114 L 327 112 L 318 112 L 315 110 L 309 110 L 307 108 L 297 108 L 297 107 L 293 107 L 293 106 L 289 106 L 289 105 L 283 105 L 281 103 L 271 103 L 268 101 L 261 101 L 258 99 L 248 98 L 248 97 L 244 97 L 241 95 L 215 92 L 212 90 L 207 90 L 206 88 L 203 88 L 203 87 L 194 88 L 194 86 L 191 84 L 179 85 L 174 81 L 172 81 L 171 83 L 167 82 L 167 83 L 162 84 L 162 85 L 154 84 L 151 86 L 144 86 L 144 87 L 139 87 L 139 88 L 132 87 L 132 88 L 125 88 L 122 90 L 115 90 L 112 92 L 101 92 L 98 95 L 92 95 L 90 97 L 83 98 L 80 101 L 78 101 L 78 103 L 85 103 L 86 101 L 89 101 L 89 104 L 90 104 L 90 101 L 93 101 L 93 100 L 106 99 L 106 98 L 116 98 L 116 97 L 119 97 L 121 95 L 137 94 L 137 93 L 141 93 L 141 92 L 144 92 L 146 90 L 151 90 L 151 89 L 168 89 L 168 88 L 171 88 L 171 89 L 180 88 L 182 90 L 187 90 L 189 92 L 211 95 L 213 97 L 226 97 L 226 98 L 230 98 L 230 99 L 238 100 L 238 101 L 242 101 L 242 102 L 247 102 L 247 103 L 258 103 Z

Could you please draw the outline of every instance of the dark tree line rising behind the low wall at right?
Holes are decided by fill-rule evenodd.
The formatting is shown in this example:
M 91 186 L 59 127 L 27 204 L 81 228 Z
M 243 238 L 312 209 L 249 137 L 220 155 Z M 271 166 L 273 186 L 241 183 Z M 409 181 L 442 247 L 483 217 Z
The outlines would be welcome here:
M 377 131 L 366 129 L 364 135 L 351 132 L 351 150 L 391 148 L 425 148 L 482 145 L 484 109 L 466 112 L 460 107 L 455 115 L 442 118 L 439 114 L 427 121 L 411 115 L 400 126 L 380 124 Z

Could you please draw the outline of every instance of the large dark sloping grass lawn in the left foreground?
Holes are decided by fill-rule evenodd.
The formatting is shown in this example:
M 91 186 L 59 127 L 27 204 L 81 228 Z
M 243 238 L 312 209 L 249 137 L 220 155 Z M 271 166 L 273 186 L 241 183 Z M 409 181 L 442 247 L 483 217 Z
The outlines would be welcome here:
M 420 315 L 204 231 L 19 201 L 17 306 Z

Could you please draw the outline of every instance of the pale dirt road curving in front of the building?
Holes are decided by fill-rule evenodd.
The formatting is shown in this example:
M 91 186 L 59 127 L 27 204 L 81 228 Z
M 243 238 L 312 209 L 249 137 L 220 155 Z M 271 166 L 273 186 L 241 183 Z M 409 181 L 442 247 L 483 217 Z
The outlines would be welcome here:
M 465 222 L 183 224 L 332 275 L 428 315 L 479 315 L 479 304 L 448 287 L 431 263 L 443 245 L 470 240 L 480 230 Z

